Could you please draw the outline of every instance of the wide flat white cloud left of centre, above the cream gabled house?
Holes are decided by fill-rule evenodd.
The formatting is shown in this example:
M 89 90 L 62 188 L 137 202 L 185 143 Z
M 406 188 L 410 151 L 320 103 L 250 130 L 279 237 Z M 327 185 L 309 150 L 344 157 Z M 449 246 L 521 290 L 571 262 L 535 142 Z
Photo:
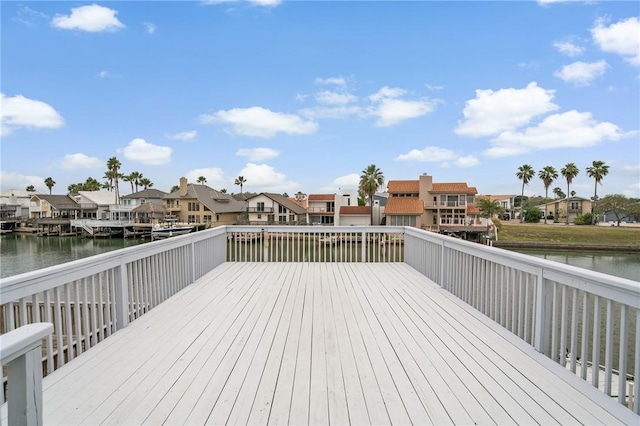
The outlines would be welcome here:
M 308 135 L 318 130 L 318 124 L 294 114 L 273 112 L 266 108 L 234 108 L 201 116 L 203 123 L 223 123 L 230 132 L 243 136 L 272 138 L 278 133 Z

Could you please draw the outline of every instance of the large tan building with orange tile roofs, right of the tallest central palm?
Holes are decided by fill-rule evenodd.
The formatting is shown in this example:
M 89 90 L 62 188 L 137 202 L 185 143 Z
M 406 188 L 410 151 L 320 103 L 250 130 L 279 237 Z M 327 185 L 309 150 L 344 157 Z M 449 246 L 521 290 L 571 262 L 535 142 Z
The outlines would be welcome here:
M 385 224 L 442 230 L 479 222 L 477 189 L 465 182 L 437 183 L 422 174 L 416 180 L 391 180 Z

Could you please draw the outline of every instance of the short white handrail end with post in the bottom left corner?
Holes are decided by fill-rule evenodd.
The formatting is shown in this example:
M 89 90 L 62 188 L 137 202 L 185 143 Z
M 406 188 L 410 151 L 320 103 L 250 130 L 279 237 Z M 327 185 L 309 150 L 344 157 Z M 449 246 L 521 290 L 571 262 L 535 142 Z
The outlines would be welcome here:
M 35 323 L 0 336 L 0 358 L 7 365 L 11 386 L 7 398 L 10 425 L 43 423 L 41 346 L 52 332 L 53 324 Z

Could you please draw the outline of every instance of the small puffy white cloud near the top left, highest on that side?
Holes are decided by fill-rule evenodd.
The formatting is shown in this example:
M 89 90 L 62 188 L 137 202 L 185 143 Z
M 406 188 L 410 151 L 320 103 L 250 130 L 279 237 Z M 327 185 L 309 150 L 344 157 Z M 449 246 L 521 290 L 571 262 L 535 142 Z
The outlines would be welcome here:
M 63 30 L 81 30 L 92 33 L 116 31 L 124 24 L 116 18 L 117 10 L 92 4 L 71 9 L 70 15 L 56 15 L 51 25 Z

